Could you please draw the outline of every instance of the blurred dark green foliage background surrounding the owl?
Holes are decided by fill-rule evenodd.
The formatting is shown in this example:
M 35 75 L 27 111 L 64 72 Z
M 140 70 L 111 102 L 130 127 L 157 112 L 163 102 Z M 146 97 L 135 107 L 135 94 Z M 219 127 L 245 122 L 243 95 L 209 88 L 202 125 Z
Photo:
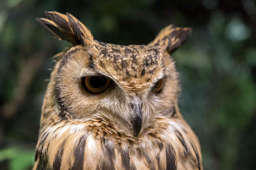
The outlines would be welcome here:
M 170 23 L 193 35 L 173 57 L 180 107 L 204 169 L 256 169 L 256 1 L 0 0 L 0 169 L 30 169 L 56 53 L 71 46 L 35 21 L 69 12 L 98 41 L 147 44 Z

